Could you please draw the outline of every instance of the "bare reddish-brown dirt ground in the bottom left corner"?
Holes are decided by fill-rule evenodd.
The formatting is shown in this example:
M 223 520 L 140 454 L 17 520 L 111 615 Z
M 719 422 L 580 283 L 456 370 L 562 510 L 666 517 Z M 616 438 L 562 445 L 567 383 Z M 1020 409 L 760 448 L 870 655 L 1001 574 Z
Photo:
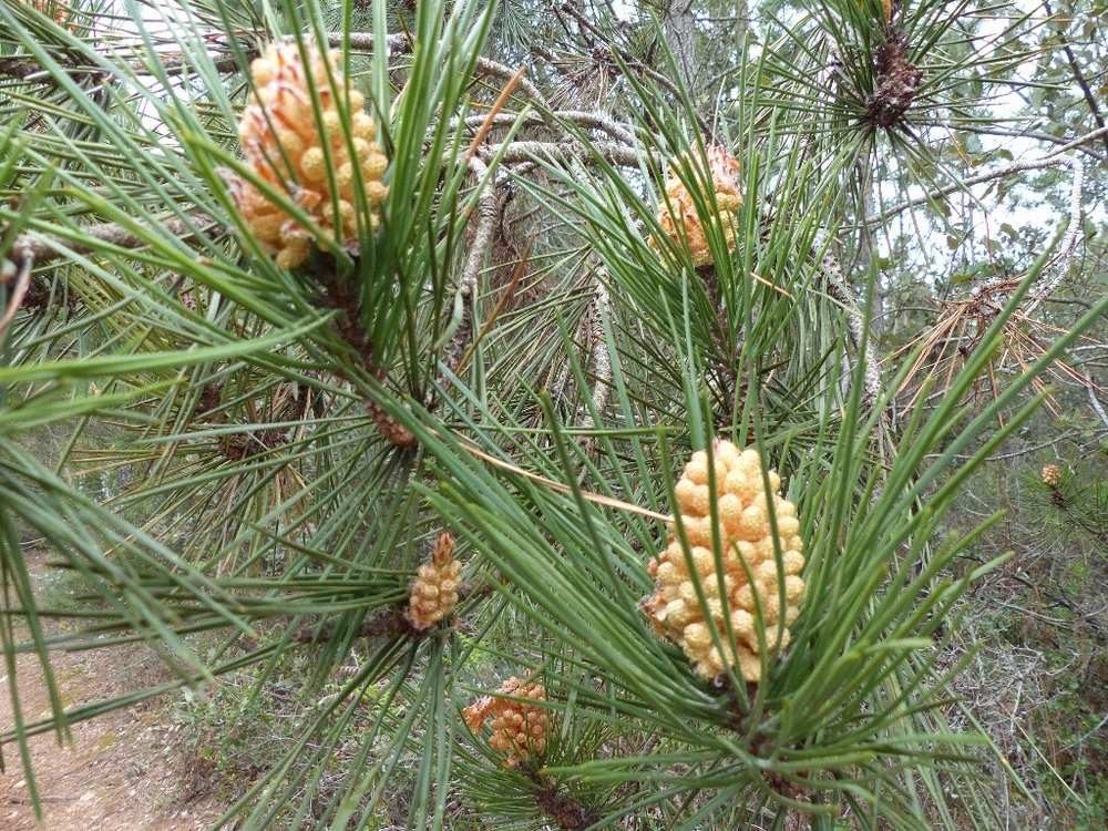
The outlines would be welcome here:
M 35 583 L 47 582 L 41 562 L 30 562 Z M 52 669 L 66 708 L 104 700 L 140 684 L 164 680 L 142 647 L 54 653 Z M 34 655 L 18 658 L 16 678 L 25 721 L 50 716 L 50 698 Z M 208 828 L 222 807 L 197 792 L 197 777 L 177 727 L 172 700 L 153 700 L 81 721 L 71 740 L 54 731 L 30 740 L 34 782 L 43 811 L 35 822 L 19 748 L 3 750 L 0 829 L 3 831 L 192 831 Z M 0 664 L 0 732 L 14 725 L 11 678 Z

